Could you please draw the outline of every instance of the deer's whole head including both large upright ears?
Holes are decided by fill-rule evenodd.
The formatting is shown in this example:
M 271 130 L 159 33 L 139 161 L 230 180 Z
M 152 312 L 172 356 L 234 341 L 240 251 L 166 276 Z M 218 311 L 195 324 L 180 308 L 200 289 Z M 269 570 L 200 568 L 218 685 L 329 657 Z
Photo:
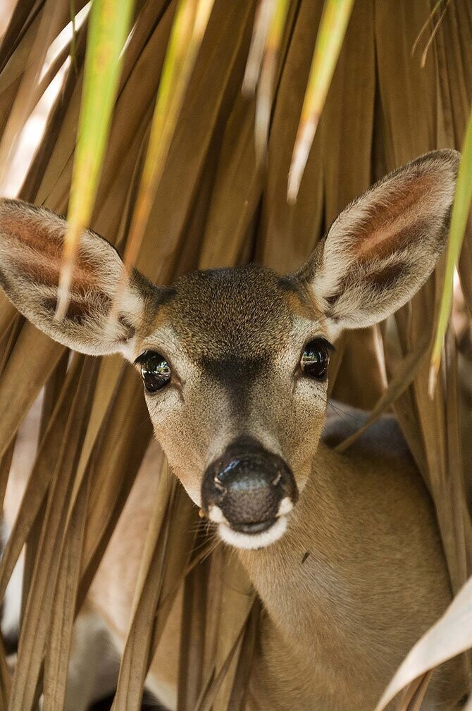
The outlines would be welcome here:
M 340 214 L 300 272 L 195 272 L 171 288 L 129 279 L 85 232 L 70 309 L 54 319 L 65 222 L 0 203 L 0 283 L 45 333 L 84 353 L 121 351 L 139 369 L 156 437 L 193 501 L 236 547 L 283 535 L 309 476 L 326 410 L 332 343 L 402 306 L 444 247 L 458 154 L 436 151 Z

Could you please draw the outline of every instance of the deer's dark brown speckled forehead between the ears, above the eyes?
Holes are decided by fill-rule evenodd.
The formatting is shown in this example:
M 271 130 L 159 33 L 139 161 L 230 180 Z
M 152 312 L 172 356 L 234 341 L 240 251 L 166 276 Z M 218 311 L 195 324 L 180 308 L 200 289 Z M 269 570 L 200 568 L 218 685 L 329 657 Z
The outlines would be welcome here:
M 162 341 L 217 378 L 230 363 L 255 371 L 290 348 L 301 309 L 296 288 L 265 267 L 193 272 L 169 290 L 143 343 Z

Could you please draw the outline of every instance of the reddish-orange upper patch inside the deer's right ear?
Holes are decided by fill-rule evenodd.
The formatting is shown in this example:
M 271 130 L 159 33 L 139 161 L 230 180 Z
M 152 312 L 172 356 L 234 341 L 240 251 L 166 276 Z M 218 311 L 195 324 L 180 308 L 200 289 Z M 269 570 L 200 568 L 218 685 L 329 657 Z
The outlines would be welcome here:
M 387 255 L 408 245 L 412 235 L 427 223 L 428 205 L 422 205 L 424 197 L 433 187 L 435 177 L 430 173 L 411 178 L 382 194 L 382 186 L 372 195 L 368 216 L 355 226 L 358 238 L 352 246 L 355 258 L 368 262 L 372 257 Z M 383 199 L 382 199 L 383 198 Z M 428 201 L 427 201 L 428 203 Z

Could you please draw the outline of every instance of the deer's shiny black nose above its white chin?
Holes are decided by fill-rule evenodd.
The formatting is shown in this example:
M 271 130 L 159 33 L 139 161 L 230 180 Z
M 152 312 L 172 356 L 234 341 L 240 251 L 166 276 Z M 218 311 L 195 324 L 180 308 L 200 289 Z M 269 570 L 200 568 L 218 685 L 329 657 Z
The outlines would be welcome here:
M 202 503 L 206 513 L 218 507 L 232 528 L 243 533 L 267 530 L 281 501 L 295 503 L 294 475 L 277 454 L 250 437 L 240 437 L 205 471 Z M 210 518 L 217 520 L 214 514 Z

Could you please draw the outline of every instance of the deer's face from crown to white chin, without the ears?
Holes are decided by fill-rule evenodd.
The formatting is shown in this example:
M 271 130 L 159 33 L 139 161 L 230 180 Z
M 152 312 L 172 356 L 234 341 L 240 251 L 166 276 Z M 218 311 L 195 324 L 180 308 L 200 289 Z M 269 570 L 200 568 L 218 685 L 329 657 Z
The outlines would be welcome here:
M 139 344 L 173 471 L 235 545 L 285 530 L 326 409 L 331 344 L 296 282 L 251 265 L 178 279 Z

